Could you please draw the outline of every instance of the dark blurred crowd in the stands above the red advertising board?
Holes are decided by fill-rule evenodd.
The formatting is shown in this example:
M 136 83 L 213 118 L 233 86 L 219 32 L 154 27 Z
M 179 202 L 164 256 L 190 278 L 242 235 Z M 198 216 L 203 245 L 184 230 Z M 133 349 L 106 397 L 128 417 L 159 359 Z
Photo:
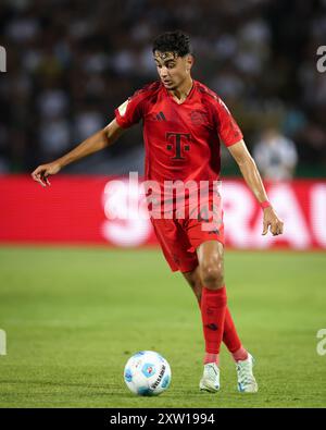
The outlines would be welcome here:
M 29 172 L 106 124 L 135 89 L 155 79 L 151 41 L 191 35 L 193 76 L 224 98 L 250 148 L 268 126 L 296 144 L 297 175 L 326 167 L 325 0 L 1 1 L 0 171 Z M 226 158 L 225 173 L 236 173 Z M 140 127 L 70 172 L 142 169 Z

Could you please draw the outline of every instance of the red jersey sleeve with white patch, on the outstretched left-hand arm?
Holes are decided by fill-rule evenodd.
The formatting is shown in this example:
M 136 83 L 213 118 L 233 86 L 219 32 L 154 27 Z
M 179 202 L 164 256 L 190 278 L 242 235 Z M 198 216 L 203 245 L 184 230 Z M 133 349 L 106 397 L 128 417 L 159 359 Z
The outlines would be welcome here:
M 128 128 L 137 124 L 143 115 L 145 99 L 140 91 L 134 94 L 124 103 L 115 109 L 115 119 L 118 125 L 123 128 Z

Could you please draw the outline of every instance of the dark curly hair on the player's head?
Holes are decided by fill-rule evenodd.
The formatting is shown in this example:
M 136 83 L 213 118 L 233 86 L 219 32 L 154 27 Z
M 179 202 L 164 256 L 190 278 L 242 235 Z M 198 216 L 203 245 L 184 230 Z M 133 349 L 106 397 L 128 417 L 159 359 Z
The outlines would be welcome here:
M 179 57 L 185 57 L 192 53 L 190 38 L 180 30 L 162 33 L 153 41 L 153 53 L 155 51 L 176 52 Z

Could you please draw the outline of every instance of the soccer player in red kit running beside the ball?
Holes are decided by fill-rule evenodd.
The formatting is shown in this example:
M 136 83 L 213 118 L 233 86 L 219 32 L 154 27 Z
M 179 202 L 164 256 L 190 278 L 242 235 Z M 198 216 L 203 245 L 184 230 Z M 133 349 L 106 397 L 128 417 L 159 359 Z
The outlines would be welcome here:
M 115 110 L 115 119 L 62 158 L 38 167 L 32 176 L 42 186 L 49 175 L 83 157 L 112 145 L 121 134 L 142 120 L 146 145 L 146 180 L 163 185 L 166 181 L 209 182 L 205 209 L 216 205 L 213 183 L 221 169 L 221 142 L 227 147 L 246 183 L 263 210 L 263 232 L 283 233 L 283 222 L 267 199 L 261 176 L 242 138 L 241 131 L 221 98 L 192 79 L 190 40 L 181 32 L 168 32 L 153 42 L 153 60 L 159 79 L 136 91 Z M 190 193 L 190 192 L 189 192 Z M 214 194 L 215 193 L 215 194 Z M 191 193 L 190 193 L 191 194 Z M 189 209 L 190 195 L 186 196 Z M 214 201 L 213 201 L 214 200 Z M 174 201 L 172 199 L 172 201 Z M 187 206 L 188 205 L 188 206 Z M 253 357 L 242 346 L 229 308 L 224 282 L 224 229 L 220 216 L 179 219 L 151 217 L 163 254 L 173 271 L 179 270 L 198 299 L 205 342 L 200 390 L 220 390 L 220 347 L 224 342 L 235 363 L 240 392 L 258 391 Z M 215 207 L 216 208 L 216 207 Z M 208 222 L 210 221 L 210 222 Z M 212 225 L 208 229 L 208 225 Z

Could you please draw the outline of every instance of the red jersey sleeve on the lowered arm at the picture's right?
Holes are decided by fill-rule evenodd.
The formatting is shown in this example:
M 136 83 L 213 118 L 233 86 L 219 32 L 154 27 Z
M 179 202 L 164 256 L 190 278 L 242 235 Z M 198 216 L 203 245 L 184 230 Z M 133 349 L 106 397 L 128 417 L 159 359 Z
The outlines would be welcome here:
M 217 133 L 225 146 L 231 146 L 243 138 L 239 125 L 222 99 L 216 100 Z

